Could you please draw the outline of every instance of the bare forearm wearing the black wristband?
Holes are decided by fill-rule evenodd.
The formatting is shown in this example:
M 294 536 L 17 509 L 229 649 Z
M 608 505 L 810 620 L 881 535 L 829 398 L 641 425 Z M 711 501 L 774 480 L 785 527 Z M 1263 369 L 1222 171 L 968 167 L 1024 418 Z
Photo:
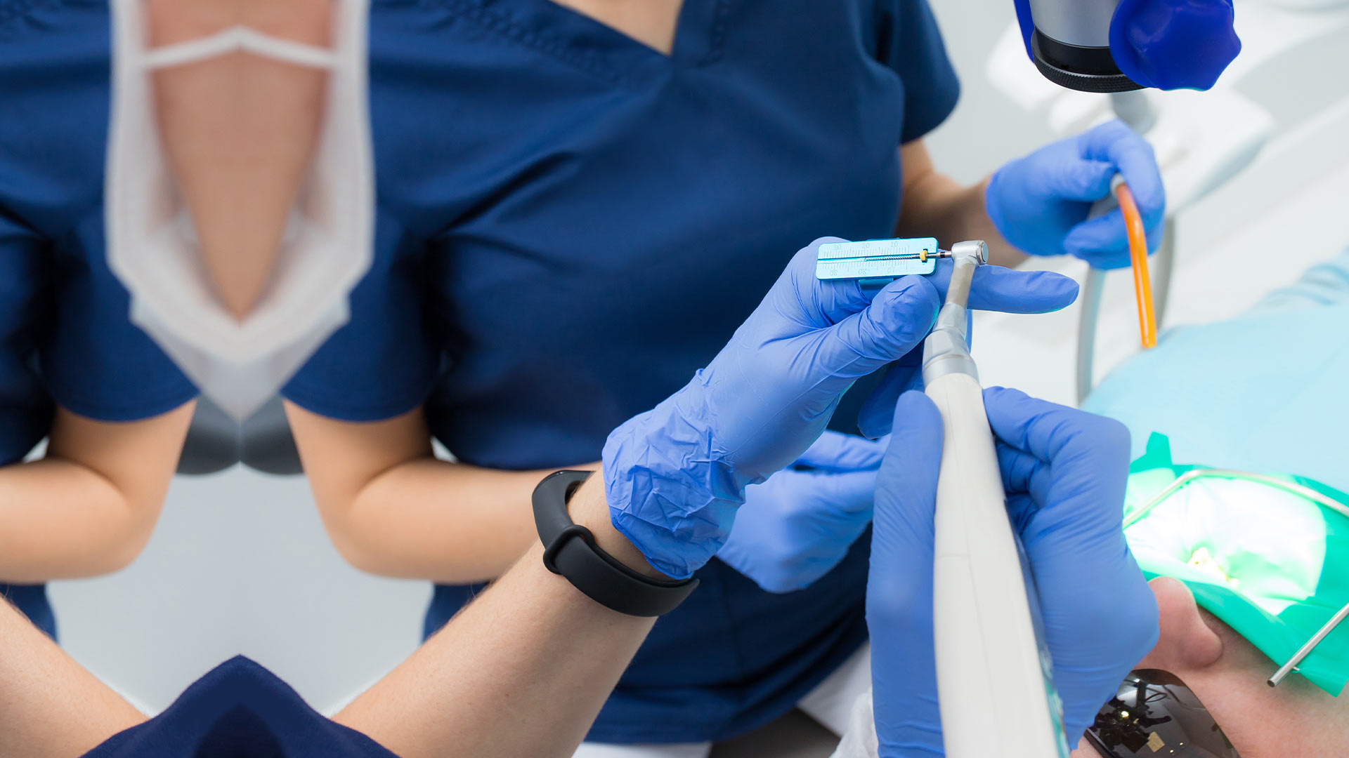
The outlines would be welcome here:
M 608 553 L 654 573 L 610 525 L 598 476 L 571 511 Z M 490 591 L 335 719 L 403 758 L 565 758 L 653 623 L 548 572 L 536 538 Z

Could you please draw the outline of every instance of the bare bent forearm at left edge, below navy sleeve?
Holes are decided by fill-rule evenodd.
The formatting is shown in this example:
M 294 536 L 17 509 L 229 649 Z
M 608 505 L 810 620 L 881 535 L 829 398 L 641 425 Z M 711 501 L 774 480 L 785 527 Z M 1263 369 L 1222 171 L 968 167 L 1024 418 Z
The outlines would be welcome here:
M 135 558 L 159 508 L 135 508 L 103 475 L 43 459 L 0 468 L 0 581 L 98 576 Z

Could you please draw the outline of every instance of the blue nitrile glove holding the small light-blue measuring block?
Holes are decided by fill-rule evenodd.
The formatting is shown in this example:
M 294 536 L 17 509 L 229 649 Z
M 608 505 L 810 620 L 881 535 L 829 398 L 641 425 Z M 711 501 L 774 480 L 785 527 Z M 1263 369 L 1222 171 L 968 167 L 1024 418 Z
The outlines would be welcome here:
M 799 251 L 707 368 L 608 436 L 614 527 L 657 571 L 687 577 L 703 566 L 726 542 L 745 487 L 800 457 L 857 378 L 907 355 L 932 328 L 943 279 L 904 276 L 878 291 L 822 282 L 815 262 L 828 241 L 843 240 Z M 1044 312 L 1077 297 L 1066 276 L 985 268 L 970 293 L 983 308 Z

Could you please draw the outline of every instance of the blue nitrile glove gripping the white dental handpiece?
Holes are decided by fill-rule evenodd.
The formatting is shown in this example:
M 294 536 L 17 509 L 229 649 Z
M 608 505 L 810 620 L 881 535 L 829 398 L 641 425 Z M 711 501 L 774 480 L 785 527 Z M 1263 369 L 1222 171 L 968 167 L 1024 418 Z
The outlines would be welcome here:
M 985 390 L 983 402 L 1008 511 L 1039 589 L 1068 745 L 1077 746 L 1157 639 L 1156 600 L 1124 541 L 1129 433 L 1017 390 Z M 932 657 L 940 464 L 942 417 L 927 395 L 905 392 L 877 475 L 866 587 L 882 758 L 943 755 Z

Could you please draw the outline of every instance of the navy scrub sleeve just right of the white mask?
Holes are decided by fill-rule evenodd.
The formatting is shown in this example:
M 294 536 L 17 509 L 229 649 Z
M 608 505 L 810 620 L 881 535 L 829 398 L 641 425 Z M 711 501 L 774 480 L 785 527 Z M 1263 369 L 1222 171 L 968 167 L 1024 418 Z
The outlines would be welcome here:
M 351 316 L 282 387 L 281 395 L 310 413 L 339 421 L 382 421 L 426 401 L 440 368 L 440 349 L 426 328 L 421 245 L 382 225 L 375 259 L 352 290 Z

